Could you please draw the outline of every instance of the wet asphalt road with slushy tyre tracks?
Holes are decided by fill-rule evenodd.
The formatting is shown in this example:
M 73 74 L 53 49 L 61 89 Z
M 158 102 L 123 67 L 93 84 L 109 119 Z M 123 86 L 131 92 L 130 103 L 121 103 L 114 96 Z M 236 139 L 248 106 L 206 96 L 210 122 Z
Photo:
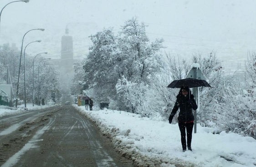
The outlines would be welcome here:
M 0 118 L 1 167 L 133 167 L 72 105 Z

